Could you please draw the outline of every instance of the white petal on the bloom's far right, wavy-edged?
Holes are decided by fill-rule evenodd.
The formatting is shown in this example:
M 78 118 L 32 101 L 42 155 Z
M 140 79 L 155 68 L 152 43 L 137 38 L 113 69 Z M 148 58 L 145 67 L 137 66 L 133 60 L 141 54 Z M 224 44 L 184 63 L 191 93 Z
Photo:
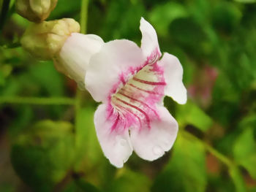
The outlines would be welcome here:
M 160 66 L 164 67 L 165 95 L 173 98 L 178 104 L 185 104 L 187 102 L 187 89 L 182 82 L 183 68 L 176 56 L 165 53 L 160 61 Z

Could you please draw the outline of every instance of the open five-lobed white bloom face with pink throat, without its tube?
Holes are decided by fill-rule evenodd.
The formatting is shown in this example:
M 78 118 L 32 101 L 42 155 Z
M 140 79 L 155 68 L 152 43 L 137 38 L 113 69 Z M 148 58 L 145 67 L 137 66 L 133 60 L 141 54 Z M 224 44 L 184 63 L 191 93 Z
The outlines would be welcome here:
M 178 58 L 164 53 L 160 59 L 156 31 L 143 18 L 140 31 L 141 47 L 124 39 L 107 42 L 91 56 L 86 70 L 86 88 L 102 102 L 94 115 L 97 137 L 116 167 L 122 167 L 133 150 L 148 161 L 170 150 L 178 123 L 163 98 L 187 101 Z

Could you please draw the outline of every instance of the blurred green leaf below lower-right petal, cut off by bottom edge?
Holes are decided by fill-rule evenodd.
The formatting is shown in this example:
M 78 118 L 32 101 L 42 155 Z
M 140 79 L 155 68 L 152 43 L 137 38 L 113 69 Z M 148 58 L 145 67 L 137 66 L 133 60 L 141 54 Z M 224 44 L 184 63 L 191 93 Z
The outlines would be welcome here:
M 206 159 L 203 145 L 179 132 L 173 155 L 159 174 L 152 191 L 203 192 L 206 190 Z

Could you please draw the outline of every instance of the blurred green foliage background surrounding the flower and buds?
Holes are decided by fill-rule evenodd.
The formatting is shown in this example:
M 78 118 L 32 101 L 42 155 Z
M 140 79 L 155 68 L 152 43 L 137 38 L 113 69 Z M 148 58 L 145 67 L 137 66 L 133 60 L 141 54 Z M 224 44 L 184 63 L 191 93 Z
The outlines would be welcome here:
M 146 18 L 184 67 L 189 101 L 165 98 L 173 149 L 154 162 L 133 154 L 123 169 L 102 154 L 89 93 L 18 47 L 29 22 L 13 3 L 0 18 L 0 191 L 256 191 L 254 0 L 89 1 L 89 34 L 140 45 Z M 59 0 L 48 20 L 79 21 L 80 4 Z

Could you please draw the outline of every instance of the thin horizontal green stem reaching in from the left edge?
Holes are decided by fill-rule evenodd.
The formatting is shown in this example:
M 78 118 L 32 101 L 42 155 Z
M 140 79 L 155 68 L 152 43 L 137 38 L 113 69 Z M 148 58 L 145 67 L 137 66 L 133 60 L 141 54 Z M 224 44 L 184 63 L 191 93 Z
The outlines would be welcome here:
M 75 104 L 75 99 L 70 99 L 66 97 L 52 97 L 52 98 L 39 98 L 39 97 L 0 97 L 0 104 Z

